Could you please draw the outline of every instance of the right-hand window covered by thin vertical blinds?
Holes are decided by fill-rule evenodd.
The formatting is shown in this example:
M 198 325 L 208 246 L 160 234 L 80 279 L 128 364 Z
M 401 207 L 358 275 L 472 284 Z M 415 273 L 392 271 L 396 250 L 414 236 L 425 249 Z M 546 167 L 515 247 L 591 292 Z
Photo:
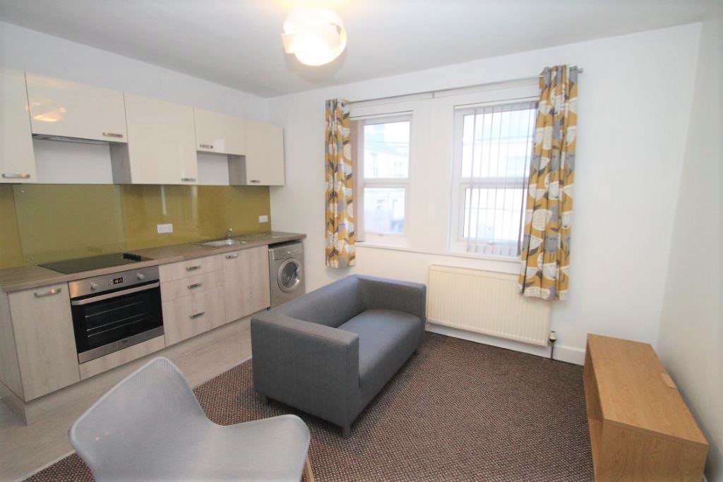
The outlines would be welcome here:
M 536 102 L 455 108 L 450 250 L 518 256 Z

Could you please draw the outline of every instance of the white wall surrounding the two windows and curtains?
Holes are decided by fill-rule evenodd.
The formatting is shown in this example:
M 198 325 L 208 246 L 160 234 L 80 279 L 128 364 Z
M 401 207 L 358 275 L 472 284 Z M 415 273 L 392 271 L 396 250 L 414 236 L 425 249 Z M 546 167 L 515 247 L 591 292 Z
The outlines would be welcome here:
M 553 307 L 555 353 L 581 362 L 588 332 L 655 345 L 688 130 L 688 116 L 680 113 L 690 111 L 699 34 L 700 24 L 683 25 L 272 98 L 268 116 L 285 129 L 287 179 L 285 187 L 271 189 L 273 228 L 307 233 L 309 289 L 351 272 L 426 283 L 432 263 L 517 272 L 516 263 L 361 246 L 356 268 L 325 267 L 324 100 L 458 87 L 578 64 L 585 73 L 573 265 L 570 300 Z M 444 182 L 429 176 L 429 192 Z

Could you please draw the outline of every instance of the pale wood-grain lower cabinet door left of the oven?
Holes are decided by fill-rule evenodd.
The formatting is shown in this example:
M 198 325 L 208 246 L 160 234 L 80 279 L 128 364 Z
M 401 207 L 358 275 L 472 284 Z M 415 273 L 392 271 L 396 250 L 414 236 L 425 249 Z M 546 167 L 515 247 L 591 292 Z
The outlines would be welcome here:
M 80 382 L 67 283 L 8 298 L 25 401 Z

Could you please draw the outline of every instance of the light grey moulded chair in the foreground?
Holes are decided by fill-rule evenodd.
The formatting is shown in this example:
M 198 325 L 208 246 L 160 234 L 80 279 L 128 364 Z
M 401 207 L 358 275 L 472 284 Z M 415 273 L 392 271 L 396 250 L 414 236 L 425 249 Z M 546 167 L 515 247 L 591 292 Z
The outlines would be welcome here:
M 217 425 L 168 358 L 154 358 L 103 395 L 68 438 L 100 481 L 299 481 L 302 471 L 313 481 L 301 418 Z

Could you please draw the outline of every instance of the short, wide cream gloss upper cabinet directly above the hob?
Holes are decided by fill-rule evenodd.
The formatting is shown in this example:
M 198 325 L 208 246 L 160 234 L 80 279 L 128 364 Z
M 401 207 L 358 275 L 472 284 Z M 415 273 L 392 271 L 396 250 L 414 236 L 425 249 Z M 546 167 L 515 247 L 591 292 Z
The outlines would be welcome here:
M 26 74 L 33 134 L 127 142 L 123 92 Z

